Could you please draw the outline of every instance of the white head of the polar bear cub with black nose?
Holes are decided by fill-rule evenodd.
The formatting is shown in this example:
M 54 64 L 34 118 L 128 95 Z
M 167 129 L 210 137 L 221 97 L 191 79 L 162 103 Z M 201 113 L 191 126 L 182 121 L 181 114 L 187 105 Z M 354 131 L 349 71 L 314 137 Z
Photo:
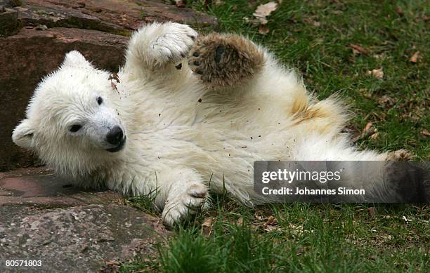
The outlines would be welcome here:
M 60 68 L 37 86 L 13 142 L 71 175 L 84 175 L 119 157 L 126 132 L 111 100 L 115 92 L 109 76 L 81 53 L 67 53 Z

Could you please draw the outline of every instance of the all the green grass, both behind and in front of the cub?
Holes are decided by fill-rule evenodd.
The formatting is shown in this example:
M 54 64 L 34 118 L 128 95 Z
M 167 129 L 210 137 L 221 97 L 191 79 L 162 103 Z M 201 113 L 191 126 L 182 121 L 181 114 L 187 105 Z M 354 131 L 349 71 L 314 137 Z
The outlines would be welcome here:
M 301 73 L 318 98 L 339 93 L 351 105 L 352 133 L 369 121 L 379 131 L 376 139 L 359 140 L 361 149 L 405 148 L 417 160 L 429 159 L 430 137 L 421 133 L 430 129 L 428 1 L 284 0 L 263 35 L 244 18 L 252 19 L 256 6 L 266 2 L 188 4 L 219 18 L 214 30 L 244 34 L 270 48 Z M 354 55 L 350 44 L 367 54 Z M 416 51 L 422 60 L 412 63 Z M 381 67 L 382 80 L 366 74 Z M 133 205 L 150 208 L 147 199 L 135 199 Z M 429 205 L 245 208 L 228 196 L 217 197 L 211 211 L 162 241 L 157 255 L 126 262 L 121 271 L 428 272 L 429 215 Z M 267 225 L 270 216 L 276 221 Z M 212 230 L 205 236 L 201 225 L 209 217 L 214 218 Z

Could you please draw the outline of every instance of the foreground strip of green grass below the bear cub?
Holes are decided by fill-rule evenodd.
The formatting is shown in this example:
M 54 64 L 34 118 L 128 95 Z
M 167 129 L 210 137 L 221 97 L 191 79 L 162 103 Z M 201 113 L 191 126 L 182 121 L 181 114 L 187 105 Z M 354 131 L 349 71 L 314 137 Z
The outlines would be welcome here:
M 427 272 L 430 266 L 429 206 L 251 209 L 228 196 L 214 204 L 176 227 L 157 255 L 124 263 L 121 272 Z M 213 218 L 210 234 L 202 229 L 207 218 Z

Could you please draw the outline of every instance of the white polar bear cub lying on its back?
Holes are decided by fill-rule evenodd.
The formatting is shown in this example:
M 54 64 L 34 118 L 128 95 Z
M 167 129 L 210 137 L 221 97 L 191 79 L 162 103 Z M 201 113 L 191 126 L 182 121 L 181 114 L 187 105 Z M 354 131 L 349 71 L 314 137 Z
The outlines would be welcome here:
M 340 133 L 344 107 L 318 101 L 265 48 L 233 34 L 197 37 L 188 25 L 145 25 L 118 74 L 77 51 L 46 76 L 13 131 L 80 185 L 157 192 L 173 225 L 207 206 L 209 185 L 245 204 L 256 160 L 386 160 L 404 151 L 358 152 Z

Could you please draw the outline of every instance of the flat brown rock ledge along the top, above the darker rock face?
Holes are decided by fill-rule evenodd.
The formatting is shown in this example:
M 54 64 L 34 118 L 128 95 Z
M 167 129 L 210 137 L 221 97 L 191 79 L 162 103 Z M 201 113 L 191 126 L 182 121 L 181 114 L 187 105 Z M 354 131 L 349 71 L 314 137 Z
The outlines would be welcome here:
M 18 11 L 22 26 L 76 27 L 125 36 L 140 25 L 154 21 L 183 22 L 194 27 L 217 23 L 213 16 L 190 8 L 146 0 L 23 0 L 22 6 L 13 9 Z

